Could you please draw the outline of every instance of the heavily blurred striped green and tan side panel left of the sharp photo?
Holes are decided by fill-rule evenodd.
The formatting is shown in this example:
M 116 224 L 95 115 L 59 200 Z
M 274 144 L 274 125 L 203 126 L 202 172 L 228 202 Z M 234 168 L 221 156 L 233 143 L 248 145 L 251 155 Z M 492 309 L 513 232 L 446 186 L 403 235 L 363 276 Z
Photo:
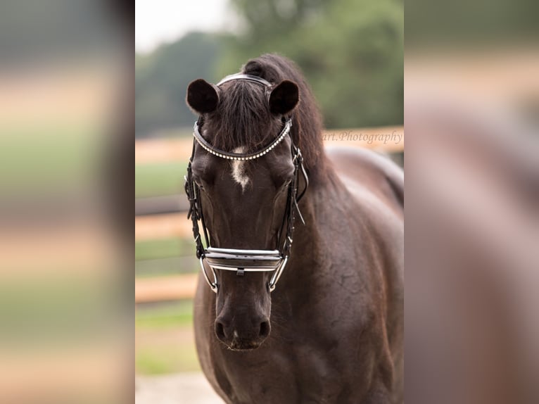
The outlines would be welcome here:
M 132 245 L 113 202 L 132 201 L 115 169 L 132 150 L 132 25 L 118 1 L 0 2 L 1 403 L 132 395 Z

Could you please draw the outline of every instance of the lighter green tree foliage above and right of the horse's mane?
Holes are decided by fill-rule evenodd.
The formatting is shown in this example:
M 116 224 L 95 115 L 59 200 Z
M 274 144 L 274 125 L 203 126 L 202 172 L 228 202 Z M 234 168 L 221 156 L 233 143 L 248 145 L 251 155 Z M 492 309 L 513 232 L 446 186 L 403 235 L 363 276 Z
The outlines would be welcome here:
M 221 75 L 238 70 L 238 61 L 277 51 L 302 68 L 326 127 L 402 124 L 402 1 L 294 0 L 286 9 L 278 6 L 283 1 L 234 4 L 247 28 L 228 42 Z

